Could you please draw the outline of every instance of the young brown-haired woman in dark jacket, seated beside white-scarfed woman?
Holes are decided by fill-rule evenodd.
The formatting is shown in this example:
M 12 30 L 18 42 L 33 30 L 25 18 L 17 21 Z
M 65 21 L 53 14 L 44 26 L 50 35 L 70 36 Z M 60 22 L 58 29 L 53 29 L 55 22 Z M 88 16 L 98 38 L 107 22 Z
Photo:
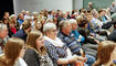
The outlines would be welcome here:
M 31 31 L 29 33 L 27 45 L 28 50 L 23 58 L 28 66 L 53 66 L 44 47 L 43 35 L 40 31 Z

